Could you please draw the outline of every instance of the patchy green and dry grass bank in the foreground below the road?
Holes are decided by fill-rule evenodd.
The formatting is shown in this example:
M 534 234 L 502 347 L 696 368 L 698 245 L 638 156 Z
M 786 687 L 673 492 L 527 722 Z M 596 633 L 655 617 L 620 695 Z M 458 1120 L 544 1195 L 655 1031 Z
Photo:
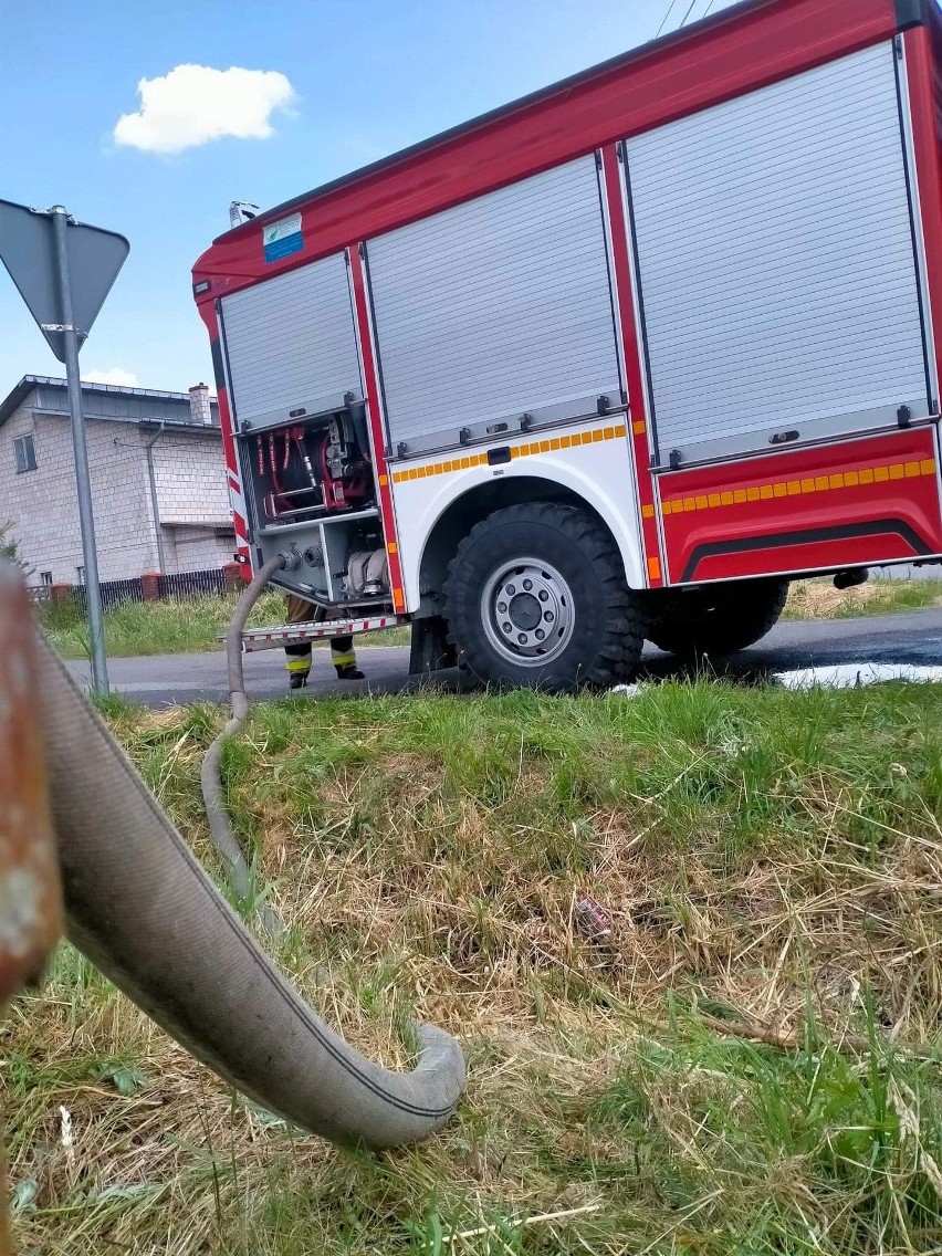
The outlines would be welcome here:
M 216 867 L 222 713 L 107 715 Z M 465 1099 L 337 1152 L 63 947 L 3 1046 L 23 1251 L 942 1251 L 941 725 L 904 685 L 256 707 L 225 774 L 278 958 L 383 1063 L 406 1014 L 457 1034 Z

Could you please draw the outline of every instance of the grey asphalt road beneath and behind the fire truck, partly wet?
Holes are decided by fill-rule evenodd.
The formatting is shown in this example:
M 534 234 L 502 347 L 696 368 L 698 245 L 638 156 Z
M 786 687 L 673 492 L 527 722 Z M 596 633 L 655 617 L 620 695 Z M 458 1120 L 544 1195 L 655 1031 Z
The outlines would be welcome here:
M 308 688 L 298 700 L 328 693 L 394 693 L 422 682 L 408 677 L 408 649 L 397 646 L 360 647 L 359 663 L 365 681 L 340 682 L 325 648 L 314 651 Z M 752 649 L 735 656 L 722 668 L 744 682 L 760 681 L 769 672 L 836 663 L 942 664 L 942 610 L 913 610 L 870 619 L 831 619 L 781 623 Z M 69 671 L 88 682 L 88 664 L 68 663 Z M 149 658 L 112 658 L 112 688 L 147 706 L 175 702 L 224 702 L 227 697 L 225 658 L 212 654 L 163 654 Z M 676 662 L 656 649 L 644 652 L 639 678 L 677 674 Z M 281 651 L 245 657 L 245 678 L 252 700 L 283 697 L 286 690 Z M 457 671 L 441 672 L 436 685 L 457 690 Z

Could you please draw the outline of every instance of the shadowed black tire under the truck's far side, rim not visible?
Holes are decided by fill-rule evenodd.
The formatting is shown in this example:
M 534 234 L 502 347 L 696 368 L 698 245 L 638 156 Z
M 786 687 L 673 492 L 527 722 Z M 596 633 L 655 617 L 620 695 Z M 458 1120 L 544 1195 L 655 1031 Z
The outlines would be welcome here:
M 735 654 L 775 627 L 785 609 L 789 582 L 732 580 L 673 594 L 652 615 L 648 641 L 668 654 Z

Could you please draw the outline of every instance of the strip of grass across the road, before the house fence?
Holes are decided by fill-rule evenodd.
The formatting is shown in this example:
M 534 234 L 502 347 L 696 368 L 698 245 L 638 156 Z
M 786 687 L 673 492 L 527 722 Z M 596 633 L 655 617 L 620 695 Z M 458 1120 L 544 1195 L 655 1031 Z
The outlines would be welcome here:
M 221 649 L 219 636 L 229 627 L 235 594 L 181 602 L 121 602 L 104 612 L 104 643 L 113 657 L 137 654 L 187 654 Z M 63 658 L 88 658 L 88 625 L 75 604 L 40 604 L 38 615 Z M 281 594 L 269 590 L 255 607 L 250 627 L 284 623 Z M 364 644 L 408 644 L 409 629 L 365 633 Z

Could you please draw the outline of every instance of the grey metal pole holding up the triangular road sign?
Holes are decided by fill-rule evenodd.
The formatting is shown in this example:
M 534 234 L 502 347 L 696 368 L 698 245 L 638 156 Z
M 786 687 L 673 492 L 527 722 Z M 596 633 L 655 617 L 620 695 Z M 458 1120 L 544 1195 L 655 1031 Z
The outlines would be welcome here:
M 65 244 L 68 215 L 62 205 L 49 211 L 55 232 L 55 260 L 59 270 L 62 300 L 62 333 L 65 357 L 65 382 L 72 416 L 72 445 L 75 451 L 75 487 L 78 491 L 79 528 L 82 529 L 82 558 L 85 565 L 85 605 L 88 628 L 92 637 L 92 688 L 97 693 L 108 692 L 108 662 L 104 654 L 104 623 L 102 618 L 102 587 L 98 580 L 98 551 L 95 549 L 95 524 L 92 510 L 92 480 L 88 474 L 88 445 L 85 442 L 85 417 L 82 412 L 82 382 L 78 364 L 78 334 L 72 306 L 72 276 Z

